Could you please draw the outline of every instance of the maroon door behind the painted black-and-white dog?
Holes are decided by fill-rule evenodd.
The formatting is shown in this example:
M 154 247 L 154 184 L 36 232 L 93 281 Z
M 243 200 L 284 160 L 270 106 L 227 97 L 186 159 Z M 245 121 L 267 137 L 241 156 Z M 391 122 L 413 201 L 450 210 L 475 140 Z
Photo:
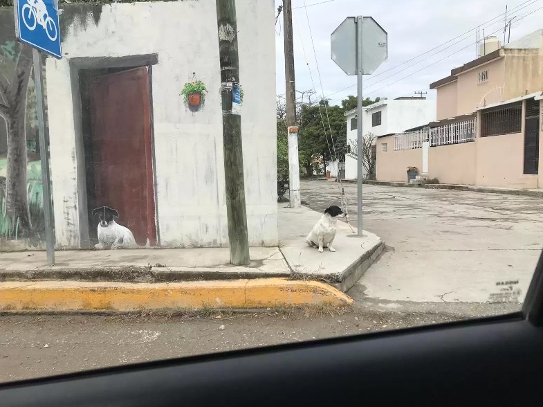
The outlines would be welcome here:
M 96 206 L 116 209 L 140 246 L 156 246 L 147 68 L 95 78 L 91 118 Z

